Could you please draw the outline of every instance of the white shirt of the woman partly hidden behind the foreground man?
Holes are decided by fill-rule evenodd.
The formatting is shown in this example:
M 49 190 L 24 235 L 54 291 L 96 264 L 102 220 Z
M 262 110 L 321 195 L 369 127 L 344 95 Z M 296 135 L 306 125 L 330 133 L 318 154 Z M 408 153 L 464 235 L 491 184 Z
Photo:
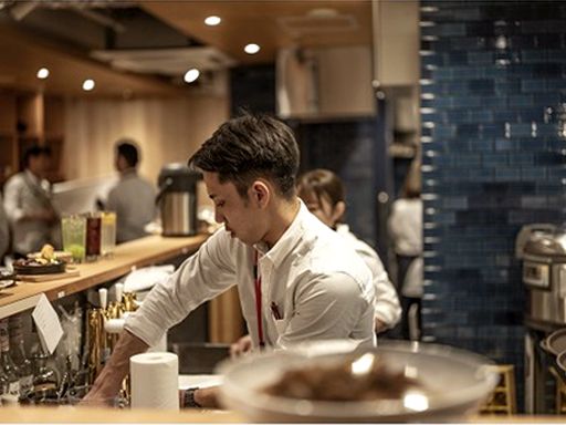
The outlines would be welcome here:
M 376 291 L 374 302 L 376 318 L 384 322 L 387 328 L 395 326 L 401 318 L 401 305 L 399 304 L 397 291 L 389 280 L 389 276 L 387 271 L 385 271 L 379 256 L 369 245 L 356 238 L 356 236 L 349 231 L 347 225 L 336 226 L 336 231 L 354 248 L 371 271 Z

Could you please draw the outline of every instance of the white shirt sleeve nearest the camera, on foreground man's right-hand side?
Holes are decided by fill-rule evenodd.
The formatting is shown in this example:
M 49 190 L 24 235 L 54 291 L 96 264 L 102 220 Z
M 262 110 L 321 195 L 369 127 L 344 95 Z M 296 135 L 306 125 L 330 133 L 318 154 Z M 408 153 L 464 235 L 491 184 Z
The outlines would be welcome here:
M 294 298 L 294 314 L 279 338 L 280 348 L 308 340 L 348 339 L 359 325 L 374 326 L 373 305 L 346 273 L 310 278 Z

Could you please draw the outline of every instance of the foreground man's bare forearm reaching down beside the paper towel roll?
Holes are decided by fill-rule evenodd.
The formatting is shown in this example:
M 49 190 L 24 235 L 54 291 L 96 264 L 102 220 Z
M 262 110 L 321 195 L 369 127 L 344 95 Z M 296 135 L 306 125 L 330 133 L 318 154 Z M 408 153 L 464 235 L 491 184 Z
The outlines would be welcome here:
M 123 331 L 108 363 L 86 394 L 84 401 L 92 404 L 106 404 L 114 398 L 120 388 L 122 381 L 129 371 L 129 357 L 145 352 L 149 346 L 139 338 Z

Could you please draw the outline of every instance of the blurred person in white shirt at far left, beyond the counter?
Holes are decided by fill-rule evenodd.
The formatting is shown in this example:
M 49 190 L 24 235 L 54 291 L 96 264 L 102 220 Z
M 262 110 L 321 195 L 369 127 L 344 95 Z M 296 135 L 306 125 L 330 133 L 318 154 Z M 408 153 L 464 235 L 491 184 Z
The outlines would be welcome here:
M 46 146 L 32 146 L 23 156 L 24 170 L 4 186 L 4 208 L 13 235 L 15 256 L 40 250 L 44 243 L 59 246 L 59 214 L 51 201 L 45 179 L 51 158 Z

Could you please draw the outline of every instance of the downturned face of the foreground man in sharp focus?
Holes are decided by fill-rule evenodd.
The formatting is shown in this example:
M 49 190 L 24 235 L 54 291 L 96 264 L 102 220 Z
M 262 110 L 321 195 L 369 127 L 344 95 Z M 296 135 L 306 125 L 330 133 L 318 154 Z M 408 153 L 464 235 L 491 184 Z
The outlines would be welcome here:
M 220 183 L 218 173 L 203 172 L 202 175 L 208 195 L 214 203 L 214 219 L 224 224 L 232 238 L 248 245 L 259 242 L 263 235 L 261 210 L 250 196 L 243 199 L 233 183 Z

